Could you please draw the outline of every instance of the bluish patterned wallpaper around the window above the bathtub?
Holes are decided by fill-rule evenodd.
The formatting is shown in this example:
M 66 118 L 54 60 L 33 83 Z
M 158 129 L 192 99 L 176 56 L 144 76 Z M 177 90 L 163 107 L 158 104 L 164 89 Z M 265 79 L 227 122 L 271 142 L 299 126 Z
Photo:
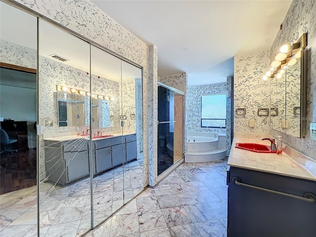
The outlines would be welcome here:
M 201 96 L 226 94 L 226 82 L 210 85 L 190 86 L 187 92 L 187 131 L 226 133 L 224 128 L 201 127 Z

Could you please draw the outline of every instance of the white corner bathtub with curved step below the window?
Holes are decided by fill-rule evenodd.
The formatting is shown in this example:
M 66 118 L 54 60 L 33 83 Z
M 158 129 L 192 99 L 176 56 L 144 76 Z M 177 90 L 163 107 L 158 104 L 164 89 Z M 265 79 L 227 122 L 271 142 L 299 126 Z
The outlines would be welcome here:
M 187 132 L 186 162 L 209 162 L 227 156 L 226 134 Z

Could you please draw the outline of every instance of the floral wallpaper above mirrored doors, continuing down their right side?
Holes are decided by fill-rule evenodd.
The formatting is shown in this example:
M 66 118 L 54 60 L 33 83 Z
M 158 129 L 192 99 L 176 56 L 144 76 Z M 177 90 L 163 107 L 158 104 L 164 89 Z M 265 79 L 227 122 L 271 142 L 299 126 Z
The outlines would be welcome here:
M 151 145 L 145 146 L 145 144 L 153 144 L 152 140 L 155 139 L 154 132 L 157 134 L 157 127 L 154 128 L 154 124 L 150 123 L 149 119 L 152 118 L 150 114 L 153 113 L 155 109 L 152 103 L 154 94 L 149 95 L 149 93 L 155 93 L 157 91 L 155 91 L 155 88 L 150 88 L 150 86 L 154 86 L 154 84 L 149 83 L 149 77 L 150 75 L 157 75 L 157 48 L 156 55 L 153 55 L 156 57 L 156 60 L 152 61 L 153 64 L 149 65 L 151 61 L 149 59 L 149 46 L 120 26 L 115 20 L 88 0 L 13 1 L 34 10 L 40 15 L 67 27 L 79 35 L 143 67 L 143 114 L 144 118 L 148 118 L 144 120 L 144 127 L 153 131 L 150 133 L 144 131 L 144 185 L 148 185 L 148 159 L 149 157 L 155 157 L 155 153 L 153 153 L 155 151 L 149 149 Z M 155 96 L 156 95 L 157 93 Z

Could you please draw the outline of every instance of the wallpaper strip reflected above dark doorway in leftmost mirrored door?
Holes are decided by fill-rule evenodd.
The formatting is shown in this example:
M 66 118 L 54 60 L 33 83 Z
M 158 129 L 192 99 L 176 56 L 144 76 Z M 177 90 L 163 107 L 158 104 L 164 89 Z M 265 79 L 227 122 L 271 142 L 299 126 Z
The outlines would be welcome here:
M 37 50 L 0 40 L 1 62 L 26 68 L 37 68 Z

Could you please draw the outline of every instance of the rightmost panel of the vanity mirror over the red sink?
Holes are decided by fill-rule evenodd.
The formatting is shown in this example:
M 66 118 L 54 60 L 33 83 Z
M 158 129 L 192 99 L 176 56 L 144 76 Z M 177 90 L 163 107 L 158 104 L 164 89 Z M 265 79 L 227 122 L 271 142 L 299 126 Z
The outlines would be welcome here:
M 300 53 L 300 52 L 299 52 Z M 286 134 L 300 137 L 301 59 L 286 67 Z

